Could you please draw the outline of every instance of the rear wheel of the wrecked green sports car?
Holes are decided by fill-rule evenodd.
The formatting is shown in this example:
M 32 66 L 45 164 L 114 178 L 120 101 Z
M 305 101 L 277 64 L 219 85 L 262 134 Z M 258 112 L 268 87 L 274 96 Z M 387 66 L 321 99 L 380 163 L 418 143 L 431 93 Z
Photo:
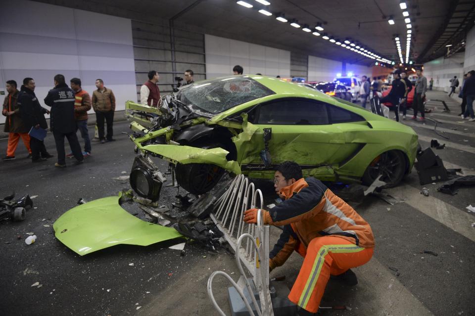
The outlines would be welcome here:
M 376 157 L 366 168 L 363 175 L 363 184 L 371 185 L 380 175 L 380 181 L 387 184 L 383 187 L 394 187 L 404 177 L 406 173 L 406 159 L 400 150 L 390 150 L 383 152 Z

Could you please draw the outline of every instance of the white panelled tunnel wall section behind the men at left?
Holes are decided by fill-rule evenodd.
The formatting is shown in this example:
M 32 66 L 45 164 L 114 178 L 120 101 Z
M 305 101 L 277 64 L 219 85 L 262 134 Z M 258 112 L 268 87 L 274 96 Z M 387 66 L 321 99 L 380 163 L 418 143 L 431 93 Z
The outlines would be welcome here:
M 31 77 L 43 104 L 58 73 L 67 84 L 81 78 L 90 94 L 95 80 L 102 79 L 114 91 L 116 110 L 124 109 L 135 93 L 131 20 L 26 0 L 2 3 L 1 85 L 15 80 L 20 88 L 23 78 Z M 0 116 L 0 123 L 4 120 Z

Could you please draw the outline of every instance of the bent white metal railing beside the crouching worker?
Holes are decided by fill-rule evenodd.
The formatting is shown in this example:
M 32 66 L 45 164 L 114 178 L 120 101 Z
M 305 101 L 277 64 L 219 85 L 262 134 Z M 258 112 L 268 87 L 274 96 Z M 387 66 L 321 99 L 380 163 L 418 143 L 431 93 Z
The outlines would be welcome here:
M 269 291 L 269 226 L 263 225 L 263 204 L 264 198 L 261 190 L 256 189 L 254 183 L 249 182 L 246 177 L 239 175 L 233 180 L 229 189 L 216 201 L 215 205 L 218 208 L 215 214 L 211 214 L 211 219 L 224 233 L 224 238 L 235 249 L 236 262 L 241 278 L 245 281 L 245 286 L 257 315 L 273 316 L 274 312 Z M 252 208 L 259 209 L 257 225 L 246 224 L 242 221 L 244 211 Z M 247 239 L 245 245 L 241 245 L 243 239 Z M 260 306 L 257 306 L 252 286 L 246 277 L 246 273 L 244 273 L 242 263 L 252 275 L 252 280 L 259 293 Z M 212 281 L 216 275 L 223 275 L 232 281 L 231 283 L 243 299 L 249 314 L 254 315 L 249 302 L 242 292 L 243 286 L 236 284 L 225 272 L 215 271 L 208 279 L 208 295 L 220 315 L 224 316 L 225 314 L 217 305 L 212 291 Z

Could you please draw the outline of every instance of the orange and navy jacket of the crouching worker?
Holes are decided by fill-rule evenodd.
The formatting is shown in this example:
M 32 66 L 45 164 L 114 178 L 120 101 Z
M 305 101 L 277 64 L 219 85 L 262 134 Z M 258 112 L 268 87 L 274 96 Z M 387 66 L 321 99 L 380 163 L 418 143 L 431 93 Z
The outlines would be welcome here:
M 279 194 L 285 196 L 285 201 L 265 215 L 269 224 L 284 225 L 269 256 L 271 269 L 282 266 L 294 250 L 305 252 L 316 237 L 332 235 L 359 247 L 375 246 L 370 225 L 322 181 L 302 178 L 284 187 Z

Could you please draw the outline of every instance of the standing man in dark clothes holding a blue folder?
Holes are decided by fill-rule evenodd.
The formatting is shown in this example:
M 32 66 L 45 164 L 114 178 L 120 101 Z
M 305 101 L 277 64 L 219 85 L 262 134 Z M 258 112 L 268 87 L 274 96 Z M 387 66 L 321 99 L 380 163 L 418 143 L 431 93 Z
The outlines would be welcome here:
M 33 78 L 23 79 L 23 86 L 20 88 L 18 94 L 18 107 L 20 108 L 20 115 L 24 119 L 26 128 L 30 131 L 35 129 L 48 129 L 46 123 L 45 113 L 49 114 L 49 111 L 40 105 L 40 101 L 35 95 L 35 81 Z M 46 151 L 45 143 L 43 139 L 30 136 L 30 148 L 31 159 L 33 162 L 45 161 L 47 158 L 52 158 Z

